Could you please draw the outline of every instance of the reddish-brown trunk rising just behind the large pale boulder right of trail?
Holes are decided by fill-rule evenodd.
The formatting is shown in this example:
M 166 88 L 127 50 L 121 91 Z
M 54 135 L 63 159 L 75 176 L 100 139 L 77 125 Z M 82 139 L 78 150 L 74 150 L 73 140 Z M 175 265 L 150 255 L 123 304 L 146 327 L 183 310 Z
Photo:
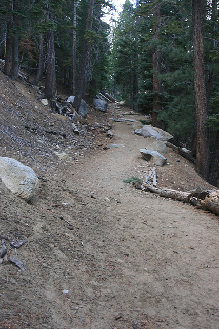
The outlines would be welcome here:
M 153 12 L 155 24 L 153 26 L 154 39 L 158 38 L 159 20 L 161 17 L 161 5 L 158 4 L 154 7 Z M 161 96 L 162 82 L 159 80 L 158 75 L 161 74 L 161 52 L 157 47 L 152 49 L 153 61 L 153 110 L 152 110 L 152 126 L 161 127 L 161 122 L 157 120 L 158 112 L 162 110 Z

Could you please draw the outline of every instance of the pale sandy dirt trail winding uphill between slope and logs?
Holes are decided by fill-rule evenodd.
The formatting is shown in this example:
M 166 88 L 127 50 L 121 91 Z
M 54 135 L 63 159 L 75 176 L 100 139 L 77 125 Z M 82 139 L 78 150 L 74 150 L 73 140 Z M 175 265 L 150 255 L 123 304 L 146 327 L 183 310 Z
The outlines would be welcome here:
M 105 283 L 109 304 L 122 299 L 121 312 L 133 321 L 139 312 L 158 315 L 162 327 L 216 329 L 216 217 L 124 184 L 123 179 L 141 177 L 147 169 L 138 152 L 145 141 L 130 126 L 115 123 L 113 128 L 113 143 L 125 147 L 104 151 L 83 169 L 84 182 L 97 193 L 97 209 L 99 199 L 110 199 L 97 234 L 103 252 L 121 269 L 113 283 Z M 111 246 L 105 246 L 109 241 Z M 104 285 L 102 289 L 104 294 Z

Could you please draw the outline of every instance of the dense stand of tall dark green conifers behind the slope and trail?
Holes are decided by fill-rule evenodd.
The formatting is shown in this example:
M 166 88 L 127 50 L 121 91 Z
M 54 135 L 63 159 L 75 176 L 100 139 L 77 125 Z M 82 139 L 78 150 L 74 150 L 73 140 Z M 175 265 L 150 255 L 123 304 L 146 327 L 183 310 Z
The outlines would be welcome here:
M 217 0 L 126 0 L 106 23 L 111 1 L 3 0 L 0 57 L 13 79 L 26 70 L 55 111 L 56 88 L 81 99 L 105 91 L 151 114 L 196 157 L 197 173 L 218 186 Z

